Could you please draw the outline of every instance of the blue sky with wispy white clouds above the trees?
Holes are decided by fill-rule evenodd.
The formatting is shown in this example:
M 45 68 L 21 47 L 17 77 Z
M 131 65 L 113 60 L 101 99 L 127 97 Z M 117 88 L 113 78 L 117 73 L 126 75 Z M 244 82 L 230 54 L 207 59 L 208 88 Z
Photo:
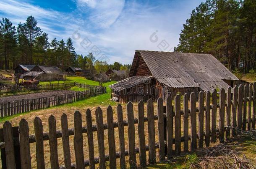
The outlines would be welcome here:
M 131 64 L 135 50 L 172 51 L 183 23 L 203 0 L 1 0 L 0 17 L 29 15 L 49 40 L 72 38 L 78 54 Z

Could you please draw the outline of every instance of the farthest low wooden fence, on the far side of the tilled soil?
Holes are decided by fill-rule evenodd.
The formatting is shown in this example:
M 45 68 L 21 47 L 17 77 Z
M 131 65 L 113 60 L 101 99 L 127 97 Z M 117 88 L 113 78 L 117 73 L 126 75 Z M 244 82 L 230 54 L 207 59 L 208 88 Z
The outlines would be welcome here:
M 0 93 L 13 93 L 13 92 L 21 92 L 21 91 L 36 91 L 36 90 L 55 90 L 55 89 L 63 89 L 70 88 L 76 86 L 76 83 L 46 83 L 46 84 L 31 84 L 31 85 L 10 85 L 3 86 L 0 88 Z

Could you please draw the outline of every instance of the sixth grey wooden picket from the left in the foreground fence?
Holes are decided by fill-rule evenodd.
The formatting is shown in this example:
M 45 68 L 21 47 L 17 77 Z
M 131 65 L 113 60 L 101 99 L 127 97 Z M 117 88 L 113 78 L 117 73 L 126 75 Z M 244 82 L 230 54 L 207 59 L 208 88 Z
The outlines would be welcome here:
M 76 168 L 84 169 L 84 149 L 82 134 L 82 116 L 79 111 L 74 113 L 74 149 Z

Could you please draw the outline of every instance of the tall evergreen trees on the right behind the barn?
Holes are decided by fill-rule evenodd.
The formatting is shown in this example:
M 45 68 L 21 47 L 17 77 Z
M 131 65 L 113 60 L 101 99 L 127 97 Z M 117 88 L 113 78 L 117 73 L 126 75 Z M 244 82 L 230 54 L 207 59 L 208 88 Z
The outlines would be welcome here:
M 183 24 L 175 52 L 210 53 L 231 71 L 256 68 L 256 0 L 206 0 Z

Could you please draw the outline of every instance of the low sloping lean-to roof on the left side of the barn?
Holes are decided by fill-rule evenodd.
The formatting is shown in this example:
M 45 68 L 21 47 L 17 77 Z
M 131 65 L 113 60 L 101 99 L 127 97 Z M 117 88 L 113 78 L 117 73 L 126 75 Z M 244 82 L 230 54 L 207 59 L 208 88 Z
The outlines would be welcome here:
M 115 91 L 121 91 L 123 89 L 128 89 L 133 86 L 139 85 L 141 83 L 149 82 L 152 78 L 153 76 L 132 76 L 117 83 L 114 83 L 109 87 L 114 89 Z

